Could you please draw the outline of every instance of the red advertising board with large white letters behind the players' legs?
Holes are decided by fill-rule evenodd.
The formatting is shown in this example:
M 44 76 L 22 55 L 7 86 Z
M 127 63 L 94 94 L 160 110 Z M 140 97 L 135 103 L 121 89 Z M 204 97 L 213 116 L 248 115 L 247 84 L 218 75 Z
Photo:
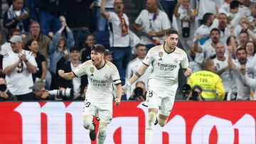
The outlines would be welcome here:
M 0 143 L 95 144 L 82 127 L 82 107 L 82 101 L 1 102 Z M 143 144 L 147 108 L 127 101 L 113 109 L 105 143 Z M 255 144 L 255 118 L 256 101 L 176 101 L 152 143 Z

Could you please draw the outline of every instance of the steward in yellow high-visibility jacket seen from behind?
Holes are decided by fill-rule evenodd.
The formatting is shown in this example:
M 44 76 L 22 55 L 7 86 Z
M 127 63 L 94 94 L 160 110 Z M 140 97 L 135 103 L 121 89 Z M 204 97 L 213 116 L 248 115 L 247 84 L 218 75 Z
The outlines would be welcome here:
M 207 58 L 203 60 L 202 70 L 191 74 L 187 82 L 191 87 L 196 84 L 202 87 L 202 96 L 206 101 L 223 100 L 225 96 L 222 79 L 214 72 L 213 60 Z

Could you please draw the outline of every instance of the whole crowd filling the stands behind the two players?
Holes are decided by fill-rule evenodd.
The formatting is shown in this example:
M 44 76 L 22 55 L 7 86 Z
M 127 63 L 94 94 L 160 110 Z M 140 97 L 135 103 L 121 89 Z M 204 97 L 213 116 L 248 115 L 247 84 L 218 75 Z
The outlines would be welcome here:
M 6 3 L 9 8 L 1 9 L 0 101 L 55 100 L 53 95 L 68 88 L 72 99 L 85 99 L 87 77 L 66 80 L 58 70 L 71 72 L 90 60 L 96 43 L 105 45 L 105 59 L 117 66 L 124 84 L 146 52 L 164 44 L 169 28 L 178 31 L 193 70 L 182 87 L 188 92 L 185 100 L 256 99 L 255 0 L 145 0 L 134 23 L 122 0 Z M 145 101 L 151 73 L 149 67 L 122 99 Z

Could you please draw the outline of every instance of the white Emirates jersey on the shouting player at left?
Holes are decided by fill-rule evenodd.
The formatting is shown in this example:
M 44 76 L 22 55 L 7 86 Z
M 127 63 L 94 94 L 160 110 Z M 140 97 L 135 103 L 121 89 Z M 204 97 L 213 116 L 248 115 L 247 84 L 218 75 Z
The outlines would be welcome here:
M 102 104 L 106 102 L 112 103 L 112 84 L 121 83 L 117 67 L 112 62 L 105 60 L 105 65 L 97 69 L 95 65 L 92 65 L 92 60 L 87 60 L 77 69 L 73 70 L 73 73 L 76 77 L 87 74 L 89 84 L 86 99 Z

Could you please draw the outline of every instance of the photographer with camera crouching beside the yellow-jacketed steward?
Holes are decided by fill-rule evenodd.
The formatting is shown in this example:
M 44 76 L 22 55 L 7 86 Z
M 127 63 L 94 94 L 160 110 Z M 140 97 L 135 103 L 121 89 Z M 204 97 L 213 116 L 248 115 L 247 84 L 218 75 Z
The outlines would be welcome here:
M 188 93 L 188 97 L 186 98 L 187 101 L 204 101 L 201 93 L 203 92 L 202 87 L 199 85 L 195 85 L 191 92 Z

